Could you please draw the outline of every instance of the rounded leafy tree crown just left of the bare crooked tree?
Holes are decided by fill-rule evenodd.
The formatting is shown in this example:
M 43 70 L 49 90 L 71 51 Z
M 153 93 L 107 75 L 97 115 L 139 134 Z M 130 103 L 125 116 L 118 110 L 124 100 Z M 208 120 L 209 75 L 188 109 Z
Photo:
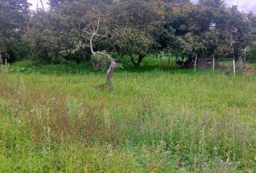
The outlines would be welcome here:
M 54 26 L 56 25 L 56 26 Z M 74 55 L 63 56 L 63 51 L 74 48 L 79 42 L 70 32 L 66 18 L 56 12 L 38 12 L 30 19 L 26 37 L 30 41 L 34 61 L 60 63 L 72 60 Z M 77 56 L 79 54 L 76 54 Z M 80 56 L 82 58 L 82 56 Z

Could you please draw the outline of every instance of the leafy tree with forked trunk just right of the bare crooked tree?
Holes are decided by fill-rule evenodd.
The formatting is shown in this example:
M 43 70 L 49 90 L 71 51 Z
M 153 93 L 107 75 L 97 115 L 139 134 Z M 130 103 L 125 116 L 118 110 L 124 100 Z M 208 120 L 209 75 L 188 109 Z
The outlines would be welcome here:
M 158 48 L 154 35 L 163 21 L 161 1 L 120 1 L 113 7 L 114 32 L 111 39 L 121 55 L 128 55 L 135 68 L 140 67 L 142 59 Z M 135 61 L 137 56 L 137 61 Z

